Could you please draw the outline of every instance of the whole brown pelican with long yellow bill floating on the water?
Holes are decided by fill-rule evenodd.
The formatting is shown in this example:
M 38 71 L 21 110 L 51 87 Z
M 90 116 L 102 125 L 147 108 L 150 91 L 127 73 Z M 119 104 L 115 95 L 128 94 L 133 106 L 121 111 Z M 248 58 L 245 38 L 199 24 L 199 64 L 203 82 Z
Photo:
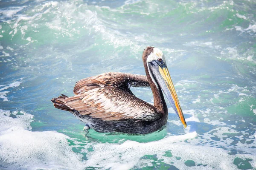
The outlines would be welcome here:
M 146 76 L 110 72 L 81 79 L 74 87 L 75 96 L 52 99 L 54 107 L 70 111 L 97 132 L 146 134 L 166 125 L 164 93 L 186 127 L 163 52 L 147 47 L 142 59 Z M 150 87 L 154 106 L 134 96 L 130 87 Z

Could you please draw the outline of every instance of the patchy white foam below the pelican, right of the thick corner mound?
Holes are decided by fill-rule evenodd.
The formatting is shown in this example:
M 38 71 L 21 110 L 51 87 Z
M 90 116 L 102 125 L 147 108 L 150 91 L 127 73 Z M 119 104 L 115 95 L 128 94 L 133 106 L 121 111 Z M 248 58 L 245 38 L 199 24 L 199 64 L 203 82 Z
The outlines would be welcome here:
M 214 133 L 214 135 L 216 134 Z M 229 151 L 217 147 L 191 145 L 191 142 L 196 141 L 196 136 L 197 133 L 193 132 L 180 136 L 169 136 L 148 143 L 126 141 L 123 144 L 95 144 L 93 150 L 97 151 L 87 154 L 89 158 L 87 165 L 95 167 L 96 162 L 98 163 L 96 167 L 116 168 L 116 165 L 122 165 L 125 170 L 128 170 L 135 165 L 137 168 L 152 165 L 150 162 L 153 162 L 153 160 L 143 161 L 141 158 L 145 155 L 156 155 L 158 160 L 162 159 L 167 164 L 171 161 L 174 162 L 172 165 L 179 169 L 188 169 L 184 162 L 193 160 L 196 164 L 207 164 L 207 167 L 196 166 L 193 169 L 230 170 L 236 169 L 236 165 L 233 164 L 236 157 L 244 158 L 245 156 L 245 154 L 229 155 Z M 188 143 L 182 142 L 184 140 L 187 140 Z M 168 150 L 171 150 L 172 157 L 164 156 Z M 175 157 L 181 159 L 177 161 Z M 255 155 L 246 154 L 246 158 L 255 159 Z M 158 160 L 156 164 L 160 164 Z

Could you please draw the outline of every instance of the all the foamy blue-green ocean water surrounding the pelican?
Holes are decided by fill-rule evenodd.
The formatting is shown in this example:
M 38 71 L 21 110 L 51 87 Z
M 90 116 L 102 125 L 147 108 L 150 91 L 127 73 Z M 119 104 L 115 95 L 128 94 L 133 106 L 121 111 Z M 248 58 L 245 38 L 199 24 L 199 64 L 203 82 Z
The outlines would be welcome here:
M 0 169 L 256 169 L 255 0 L 0 0 Z M 169 107 L 148 135 L 83 131 L 50 101 L 79 79 L 145 74 L 160 48 L 188 127 Z M 153 103 L 150 89 L 132 88 Z

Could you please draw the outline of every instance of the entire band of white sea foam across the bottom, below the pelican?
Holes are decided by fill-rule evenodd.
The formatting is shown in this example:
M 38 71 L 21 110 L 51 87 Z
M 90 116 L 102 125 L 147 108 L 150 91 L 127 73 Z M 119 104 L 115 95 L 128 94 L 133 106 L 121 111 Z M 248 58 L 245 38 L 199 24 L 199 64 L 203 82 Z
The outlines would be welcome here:
M 186 114 L 195 114 L 194 110 L 184 111 Z M 17 115 L 12 118 L 10 115 Z M 0 159 L 4 167 L 9 169 L 84 169 L 85 167 L 100 167 L 103 169 L 128 170 L 152 166 L 153 160 L 142 159 L 145 155 L 156 155 L 156 164 L 162 162 L 170 164 L 174 162 L 175 167 L 187 169 L 184 164 L 186 160 L 193 160 L 195 164 L 207 164 L 207 167 L 195 166 L 200 169 L 236 169 L 233 160 L 236 157 L 250 158 L 255 160 L 255 155 L 236 154 L 229 155 L 228 150 L 210 147 L 207 144 L 198 146 L 198 134 L 194 131 L 184 135 L 168 136 L 154 142 L 140 143 L 125 141 L 122 144 L 92 143 L 85 145 L 81 153 L 87 153 L 87 161 L 81 161 L 81 155 L 72 151 L 64 134 L 55 131 L 32 132 L 29 131 L 33 116 L 18 111 L 0 111 Z M 194 119 L 194 118 L 192 118 Z M 3 128 L 2 128 L 3 127 Z M 238 133 L 228 127 L 214 129 L 214 133 L 206 134 L 204 137 L 223 136 L 223 133 Z M 212 130 L 213 131 L 213 130 Z M 211 131 L 210 131 L 211 132 Z M 254 134 L 255 135 L 255 134 Z M 254 136 L 253 135 L 253 136 Z M 242 138 L 242 136 L 237 136 Z M 72 139 L 71 139 L 72 140 Z M 199 141 L 202 139 L 199 139 Z M 187 142 L 184 142 L 187 141 Z M 225 142 L 232 143 L 227 139 Z M 254 144 L 254 143 L 253 143 Z M 252 144 L 252 145 L 253 145 Z M 239 146 L 243 144 L 239 143 Z M 80 146 L 80 145 L 78 145 Z M 88 148 L 93 147 L 92 152 Z M 164 156 L 165 152 L 171 150 L 172 157 Z M 210 155 L 210 156 L 209 156 Z M 175 157 L 180 157 L 179 161 Z M 204 157 L 204 159 L 202 159 Z M 9 159 L 12 158 L 12 159 Z M 253 163 L 251 163 L 252 166 Z M 194 168 L 195 168 L 194 167 Z

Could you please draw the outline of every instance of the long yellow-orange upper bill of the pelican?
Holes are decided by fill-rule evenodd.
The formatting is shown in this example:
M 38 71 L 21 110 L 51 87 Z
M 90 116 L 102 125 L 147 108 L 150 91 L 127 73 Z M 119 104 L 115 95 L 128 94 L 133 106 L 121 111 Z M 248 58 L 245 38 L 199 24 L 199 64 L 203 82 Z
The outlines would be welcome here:
M 172 83 L 172 79 L 171 79 L 171 76 L 169 74 L 168 68 L 167 67 L 161 68 L 160 66 L 158 66 L 158 69 L 159 69 L 159 72 L 160 72 L 161 76 L 163 77 L 163 79 L 165 81 L 165 84 L 166 84 L 166 86 L 167 86 L 167 88 L 168 88 L 168 90 L 171 94 L 171 99 L 169 99 L 170 97 L 168 97 L 168 95 L 164 91 L 165 94 L 166 94 L 166 97 L 168 98 L 168 100 L 171 103 L 173 109 L 175 110 L 175 112 L 179 116 L 180 121 L 184 125 L 184 128 L 186 128 L 186 126 L 187 126 L 186 125 L 186 120 L 185 120 L 184 115 L 182 113 L 182 110 L 180 108 L 180 102 L 179 102 L 179 99 L 177 97 L 174 85 Z

